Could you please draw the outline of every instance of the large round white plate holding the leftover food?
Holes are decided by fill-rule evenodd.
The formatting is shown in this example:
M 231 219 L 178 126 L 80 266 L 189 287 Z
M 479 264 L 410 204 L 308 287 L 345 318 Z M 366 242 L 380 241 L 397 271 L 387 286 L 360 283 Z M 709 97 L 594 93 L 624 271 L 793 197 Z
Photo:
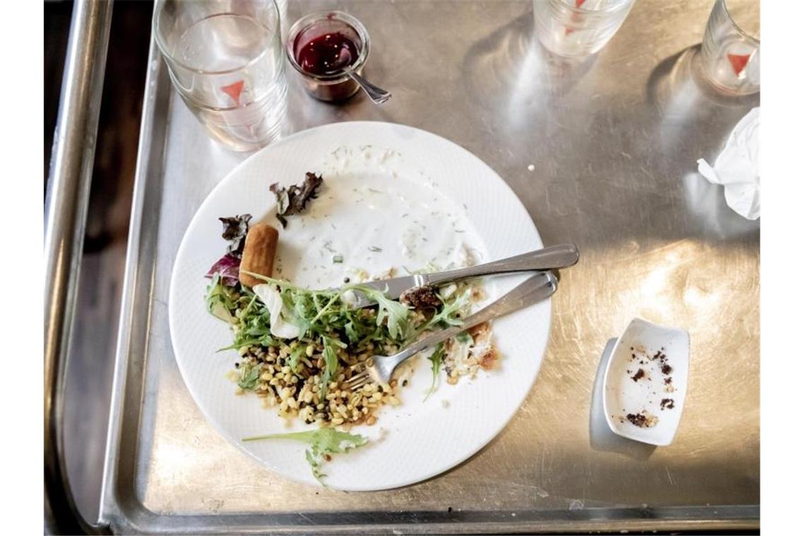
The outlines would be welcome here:
M 489 166 L 459 145 L 403 125 L 348 122 L 309 129 L 262 149 L 221 181 L 196 212 L 176 256 L 169 303 L 176 362 L 193 399 L 223 436 L 284 477 L 315 484 L 305 445 L 242 443 L 243 437 L 304 427 L 288 426 L 253 395 L 234 395 L 236 386 L 225 374 L 237 356 L 234 351 L 216 353 L 231 344 L 231 333 L 204 307 L 204 273 L 225 250 L 218 217 L 248 212 L 253 222 L 275 223 L 268 186 L 300 182 L 307 171 L 324 174 L 326 188 L 310 214 L 293 216 L 280 231 L 278 250 L 282 275 L 298 284 L 339 284 L 350 267 L 370 272 L 389 264 L 421 268 L 436 255 L 439 243 L 455 238 L 454 231 L 462 233 L 477 262 L 541 248 L 542 241 L 525 207 Z M 418 207 L 427 219 L 418 224 L 427 227 L 429 246 L 412 231 L 411 216 L 403 217 L 406 212 L 390 203 L 392 198 Z M 332 225 L 338 235 L 327 243 Z M 399 247 L 411 246 L 411 240 L 419 240 L 415 248 Z M 382 254 L 369 251 L 375 246 L 383 248 Z M 333 252 L 345 255 L 343 264 L 332 263 Z M 523 279 L 497 279 L 487 287 L 490 297 Z M 550 301 L 499 319 L 493 329 L 502 355 L 499 368 L 481 371 L 474 380 L 462 378 L 456 386 L 444 383 L 443 373 L 438 391 L 426 401 L 429 363 L 420 363 L 401 390 L 402 405 L 384 408 L 374 426 L 353 428 L 370 444 L 334 456 L 324 467 L 327 484 L 345 490 L 390 489 L 433 477 L 472 456 L 526 398 L 543 360 L 550 322 Z

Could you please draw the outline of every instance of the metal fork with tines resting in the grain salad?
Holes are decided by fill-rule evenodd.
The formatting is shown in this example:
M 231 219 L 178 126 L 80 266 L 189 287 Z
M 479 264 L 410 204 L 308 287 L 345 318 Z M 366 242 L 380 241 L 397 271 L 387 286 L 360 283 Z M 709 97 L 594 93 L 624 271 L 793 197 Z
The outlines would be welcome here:
M 483 324 L 493 318 L 502 317 L 512 313 L 526 305 L 535 304 L 542 301 L 556 292 L 558 280 L 551 272 L 538 272 L 523 283 L 518 284 L 509 293 L 491 304 L 487 305 L 477 313 L 464 319 L 462 325 L 453 325 L 436 333 L 431 333 L 425 338 L 419 339 L 405 350 L 399 351 L 394 355 L 376 355 L 365 361 L 365 369 L 347 380 L 350 391 L 357 391 L 367 383 L 389 383 L 394 370 L 411 356 L 418 354 L 422 350 L 435 346 L 440 342 L 446 341 L 462 331 L 466 331 L 476 325 Z

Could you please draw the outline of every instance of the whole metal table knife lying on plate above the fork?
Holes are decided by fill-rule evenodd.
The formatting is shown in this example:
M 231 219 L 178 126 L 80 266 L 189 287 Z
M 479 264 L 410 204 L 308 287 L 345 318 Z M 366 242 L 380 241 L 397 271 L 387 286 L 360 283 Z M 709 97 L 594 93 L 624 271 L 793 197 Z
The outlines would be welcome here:
M 361 283 L 361 286 L 379 290 L 391 300 L 396 300 L 409 288 L 423 285 L 440 286 L 471 277 L 568 268 L 577 262 L 579 262 L 579 248 L 576 248 L 575 244 L 564 243 L 559 246 L 550 246 L 533 252 L 522 253 L 508 259 L 477 264 L 469 268 L 459 268 L 448 270 L 447 272 L 411 274 L 410 276 L 393 277 L 379 281 L 366 281 Z M 353 290 L 353 300 L 350 300 L 349 303 L 353 307 L 361 308 L 373 305 L 374 300 L 361 293 L 359 289 L 355 289 Z

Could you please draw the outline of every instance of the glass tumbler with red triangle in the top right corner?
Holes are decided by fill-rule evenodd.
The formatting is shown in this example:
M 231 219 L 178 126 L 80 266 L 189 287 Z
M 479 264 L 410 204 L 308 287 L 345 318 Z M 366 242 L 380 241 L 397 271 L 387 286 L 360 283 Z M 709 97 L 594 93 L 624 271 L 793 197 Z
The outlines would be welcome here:
M 760 91 L 758 2 L 716 0 L 700 51 L 702 72 L 716 89 L 732 95 Z M 742 27 L 736 23 L 740 17 Z M 752 35 L 753 34 L 753 35 Z

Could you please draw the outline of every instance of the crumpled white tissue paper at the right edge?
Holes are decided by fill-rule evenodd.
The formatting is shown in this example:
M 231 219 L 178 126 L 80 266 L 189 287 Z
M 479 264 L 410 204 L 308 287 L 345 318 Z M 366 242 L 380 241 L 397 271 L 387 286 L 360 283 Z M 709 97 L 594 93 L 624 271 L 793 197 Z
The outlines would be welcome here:
M 699 173 L 724 185 L 724 197 L 733 211 L 746 219 L 760 217 L 760 108 L 752 108 L 729 134 L 724 149 L 710 166 L 700 158 Z

